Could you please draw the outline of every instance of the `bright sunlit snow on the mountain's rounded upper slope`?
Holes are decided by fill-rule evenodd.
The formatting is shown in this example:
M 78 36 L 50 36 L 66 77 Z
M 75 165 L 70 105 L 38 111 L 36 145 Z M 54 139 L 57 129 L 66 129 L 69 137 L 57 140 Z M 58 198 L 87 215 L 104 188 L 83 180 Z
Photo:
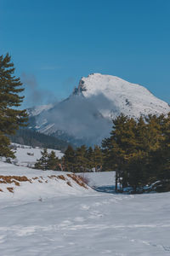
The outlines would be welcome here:
M 111 103 L 111 109 L 99 106 L 99 112 L 106 118 L 115 118 L 117 114 L 139 117 L 141 114 L 167 113 L 170 107 L 166 102 L 153 96 L 149 90 L 139 84 L 131 84 L 123 79 L 94 73 L 82 78 L 78 91 L 86 98 L 103 95 Z

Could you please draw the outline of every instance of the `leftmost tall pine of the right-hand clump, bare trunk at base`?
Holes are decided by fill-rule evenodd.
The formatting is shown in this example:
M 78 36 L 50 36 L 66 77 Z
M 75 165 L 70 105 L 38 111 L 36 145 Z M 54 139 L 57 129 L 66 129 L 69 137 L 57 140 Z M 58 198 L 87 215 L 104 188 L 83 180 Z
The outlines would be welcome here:
M 110 170 L 116 171 L 116 188 L 117 183 L 120 183 L 123 189 L 127 186 L 127 163 L 133 154 L 135 145 L 135 121 L 123 114 L 112 121 L 111 137 L 103 141 L 102 147 L 104 154 L 107 155 L 105 157 L 105 160 L 108 161 L 107 165 Z

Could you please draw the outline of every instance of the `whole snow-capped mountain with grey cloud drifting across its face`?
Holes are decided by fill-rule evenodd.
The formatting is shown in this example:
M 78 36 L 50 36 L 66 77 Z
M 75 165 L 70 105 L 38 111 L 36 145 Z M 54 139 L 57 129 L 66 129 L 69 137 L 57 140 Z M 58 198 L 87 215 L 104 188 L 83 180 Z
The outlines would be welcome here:
M 144 86 L 100 73 L 83 77 L 65 101 L 29 110 L 30 128 L 77 144 L 101 143 L 109 136 L 111 119 L 120 113 L 138 118 L 168 112 L 167 102 Z

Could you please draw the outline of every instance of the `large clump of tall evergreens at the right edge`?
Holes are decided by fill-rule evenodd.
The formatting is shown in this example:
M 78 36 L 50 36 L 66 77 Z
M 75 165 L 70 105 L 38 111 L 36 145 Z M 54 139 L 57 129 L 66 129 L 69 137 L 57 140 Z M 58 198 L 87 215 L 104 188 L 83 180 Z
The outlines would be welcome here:
M 104 148 L 107 165 L 116 170 L 116 187 L 132 186 L 133 191 L 158 179 L 170 178 L 170 114 L 113 120 L 111 137 Z M 105 164 L 105 166 L 107 166 Z

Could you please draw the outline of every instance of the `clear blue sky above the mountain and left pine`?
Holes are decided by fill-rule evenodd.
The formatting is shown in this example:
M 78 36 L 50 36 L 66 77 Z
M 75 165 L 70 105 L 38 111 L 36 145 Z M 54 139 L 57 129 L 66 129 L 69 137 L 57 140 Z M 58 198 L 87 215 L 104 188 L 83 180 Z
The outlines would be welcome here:
M 48 100 L 69 96 L 82 76 L 105 73 L 170 103 L 169 0 L 0 0 L 6 52 Z

